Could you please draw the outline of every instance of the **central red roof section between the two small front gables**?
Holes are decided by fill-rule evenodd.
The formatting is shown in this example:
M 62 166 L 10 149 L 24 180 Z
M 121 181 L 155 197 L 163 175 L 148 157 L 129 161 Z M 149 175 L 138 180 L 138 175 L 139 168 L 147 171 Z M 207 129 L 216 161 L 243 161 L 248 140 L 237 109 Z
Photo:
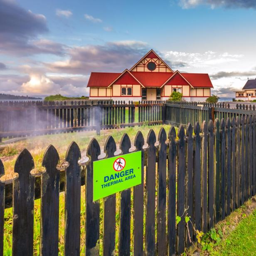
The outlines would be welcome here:
M 145 87 L 160 87 L 172 76 L 168 72 L 131 72 Z

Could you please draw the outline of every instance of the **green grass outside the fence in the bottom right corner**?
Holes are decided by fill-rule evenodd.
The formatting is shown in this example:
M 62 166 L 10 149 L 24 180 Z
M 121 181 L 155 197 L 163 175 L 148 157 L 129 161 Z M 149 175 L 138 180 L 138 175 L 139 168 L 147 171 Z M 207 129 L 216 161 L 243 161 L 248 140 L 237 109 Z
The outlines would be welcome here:
M 212 255 L 256 255 L 256 210 L 244 217 Z

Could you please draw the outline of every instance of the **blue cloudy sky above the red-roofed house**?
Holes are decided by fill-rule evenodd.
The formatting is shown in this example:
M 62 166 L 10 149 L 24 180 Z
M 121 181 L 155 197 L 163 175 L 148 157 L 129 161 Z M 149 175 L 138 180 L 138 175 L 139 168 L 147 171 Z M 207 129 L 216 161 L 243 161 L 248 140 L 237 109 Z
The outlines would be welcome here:
M 255 0 L 0 0 L 0 93 L 88 96 L 150 49 L 221 97 L 256 78 Z

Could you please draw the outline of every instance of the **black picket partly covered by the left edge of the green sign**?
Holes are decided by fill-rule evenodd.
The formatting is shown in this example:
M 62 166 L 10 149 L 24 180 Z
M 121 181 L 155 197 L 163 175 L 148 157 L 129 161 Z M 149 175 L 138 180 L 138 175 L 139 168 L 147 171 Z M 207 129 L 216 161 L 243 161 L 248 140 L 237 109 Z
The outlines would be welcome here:
M 93 202 L 93 162 L 98 160 L 101 148 L 98 141 L 93 138 L 88 145 L 86 155 L 90 158 L 86 162 L 86 256 L 99 255 L 100 238 L 100 204 L 99 200 Z

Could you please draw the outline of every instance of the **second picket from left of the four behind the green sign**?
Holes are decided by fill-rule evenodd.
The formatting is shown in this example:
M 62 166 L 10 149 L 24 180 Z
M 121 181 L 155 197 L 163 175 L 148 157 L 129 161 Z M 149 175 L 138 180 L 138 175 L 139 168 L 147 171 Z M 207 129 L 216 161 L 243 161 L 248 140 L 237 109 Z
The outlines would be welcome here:
M 104 153 L 112 158 L 116 152 L 116 142 L 108 136 Z M 116 245 L 116 194 L 103 198 L 103 255 L 114 255 Z

